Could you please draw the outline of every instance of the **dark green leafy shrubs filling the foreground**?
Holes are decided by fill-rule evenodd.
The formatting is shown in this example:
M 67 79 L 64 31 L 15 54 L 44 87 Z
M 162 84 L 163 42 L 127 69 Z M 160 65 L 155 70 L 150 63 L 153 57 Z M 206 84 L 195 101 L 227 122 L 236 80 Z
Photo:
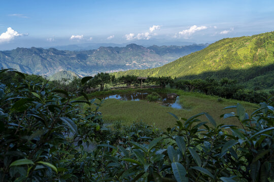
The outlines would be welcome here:
M 274 179 L 273 98 L 250 116 L 242 105 L 227 107 L 236 112 L 222 117 L 238 118 L 241 128 L 217 125 L 207 113 L 188 119 L 174 115 L 177 125 L 166 132 L 136 125 L 126 135 L 116 134 L 117 142 L 110 143 L 107 140 L 114 133 L 102 127 L 99 105 L 82 111 L 76 102 L 91 105 L 93 101 L 72 101 L 72 97 L 29 81 L 1 84 L 0 180 Z M 209 122 L 200 121 L 201 115 Z M 97 146 L 91 150 L 92 144 Z

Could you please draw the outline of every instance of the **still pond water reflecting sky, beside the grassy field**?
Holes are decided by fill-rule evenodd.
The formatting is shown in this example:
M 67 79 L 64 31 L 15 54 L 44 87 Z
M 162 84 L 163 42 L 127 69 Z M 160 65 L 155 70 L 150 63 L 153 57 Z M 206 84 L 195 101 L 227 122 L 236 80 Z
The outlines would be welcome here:
M 167 94 L 158 93 L 162 99 L 158 101 L 159 104 L 167 107 L 172 107 L 176 109 L 183 109 L 182 105 L 179 102 L 179 97 L 174 99 L 167 99 Z M 109 96 L 102 96 L 101 99 L 117 99 L 122 101 L 140 101 L 146 100 L 146 97 L 149 93 L 125 93 L 125 94 L 115 94 Z

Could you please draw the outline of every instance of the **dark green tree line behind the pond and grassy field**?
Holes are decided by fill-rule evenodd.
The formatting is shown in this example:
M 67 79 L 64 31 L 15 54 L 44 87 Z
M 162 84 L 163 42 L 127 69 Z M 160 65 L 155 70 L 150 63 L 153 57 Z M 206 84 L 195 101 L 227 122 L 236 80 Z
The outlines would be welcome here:
M 20 77 L 13 71 L 5 72 L 3 82 L 6 84 L 20 82 Z M 34 80 L 45 82 L 51 88 L 64 89 L 66 92 L 75 92 L 81 90 L 86 92 L 87 88 L 97 88 L 98 90 L 106 89 L 106 85 L 134 85 L 140 86 L 141 80 L 135 75 L 126 75 L 115 77 L 109 73 L 97 73 L 89 76 L 89 80 L 85 84 L 81 84 L 81 78 L 74 78 L 71 81 L 67 79 L 48 81 L 45 78 L 37 75 L 25 74 L 26 80 Z M 186 92 L 198 92 L 211 96 L 219 96 L 226 99 L 236 99 L 251 103 L 260 103 L 262 100 L 273 96 L 274 92 L 263 92 L 262 90 L 247 89 L 243 84 L 239 84 L 235 79 L 222 78 L 220 80 L 210 78 L 207 79 L 178 79 L 170 76 L 147 77 L 143 83 L 148 85 L 159 85 L 162 88 L 175 88 L 185 90 Z

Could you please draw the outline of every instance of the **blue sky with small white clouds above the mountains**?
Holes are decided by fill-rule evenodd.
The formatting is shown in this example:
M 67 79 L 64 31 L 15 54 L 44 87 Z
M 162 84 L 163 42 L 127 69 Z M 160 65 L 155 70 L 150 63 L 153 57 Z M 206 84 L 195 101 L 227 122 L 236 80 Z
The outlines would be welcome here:
M 3 1 L 0 50 L 134 40 L 212 43 L 274 30 L 274 1 Z

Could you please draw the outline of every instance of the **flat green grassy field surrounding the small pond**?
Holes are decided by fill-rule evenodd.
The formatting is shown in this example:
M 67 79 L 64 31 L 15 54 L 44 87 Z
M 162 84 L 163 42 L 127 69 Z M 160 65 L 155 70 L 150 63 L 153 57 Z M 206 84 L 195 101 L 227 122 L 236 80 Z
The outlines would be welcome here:
M 110 90 L 106 92 L 96 92 L 90 94 L 89 97 L 100 97 L 102 95 L 134 93 L 140 92 L 137 89 L 128 90 Z M 99 111 L 102 113 L 103 119 L 107 123 L 121 121 L 122 124 L 129 125 L 133 121 L 143 121 L 148 125 L 155 124 L 165 130 L 167 127 L 175 126 L 176 119 L 168 114 L 168 112 L 177 115 L 178 117 L 189 118 L 201 112 L 208 112 L 218 124 L 234 124 L 239 125 L 237 119 L 229 118 L 223 120 L 221 114 L 235 112 L 235 109 L 222 110 L 224 107 L 242 104 L 250 114 L 254 111 L 255 104 L 243 101 L 226 100 L 218 97 L 207 96 L 199 93 L 187 93 L 176 89 L 144 89 L 142 92 L 158 92 L 158 93 L 176 93 L 180 97 L 180 104 L 184 109 L 174 109 L 162 106 L 158 103 L 148 101 L 121 101 L 116 99 L 107 99 L 102 103 Z M 203 121 L 208 121 L 205 116 L 200 117 Z

